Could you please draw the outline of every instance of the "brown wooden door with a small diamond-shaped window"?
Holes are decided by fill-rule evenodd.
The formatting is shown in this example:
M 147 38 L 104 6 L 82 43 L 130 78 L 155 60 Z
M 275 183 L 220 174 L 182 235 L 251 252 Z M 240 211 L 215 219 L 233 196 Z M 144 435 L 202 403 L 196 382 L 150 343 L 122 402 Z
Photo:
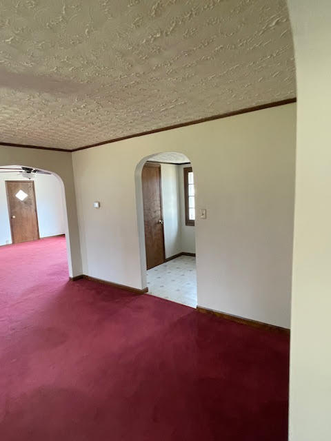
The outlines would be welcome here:
M 6 181 L 12 243 L 39 239 L 33 181 Z

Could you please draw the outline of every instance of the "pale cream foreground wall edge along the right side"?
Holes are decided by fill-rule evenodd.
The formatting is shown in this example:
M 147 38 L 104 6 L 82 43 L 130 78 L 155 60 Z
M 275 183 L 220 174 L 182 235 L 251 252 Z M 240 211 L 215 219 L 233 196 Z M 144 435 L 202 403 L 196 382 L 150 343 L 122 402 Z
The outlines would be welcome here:
M 290 440 L 331 440 L 331 3 L 289 0 L 298 87 Z

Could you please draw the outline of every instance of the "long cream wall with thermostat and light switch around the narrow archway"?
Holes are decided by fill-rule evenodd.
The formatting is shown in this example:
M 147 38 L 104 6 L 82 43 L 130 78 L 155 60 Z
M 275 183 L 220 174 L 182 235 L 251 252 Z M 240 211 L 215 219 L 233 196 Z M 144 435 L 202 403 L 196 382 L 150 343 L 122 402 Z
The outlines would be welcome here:
M 197 209 L 208 210 L 195 227 L 199 305 L 290 327 L 295 112 L 283 105 L 74 152 L 83 273 L 146 286 L 141 169 L 153 154 L 181 152 Z

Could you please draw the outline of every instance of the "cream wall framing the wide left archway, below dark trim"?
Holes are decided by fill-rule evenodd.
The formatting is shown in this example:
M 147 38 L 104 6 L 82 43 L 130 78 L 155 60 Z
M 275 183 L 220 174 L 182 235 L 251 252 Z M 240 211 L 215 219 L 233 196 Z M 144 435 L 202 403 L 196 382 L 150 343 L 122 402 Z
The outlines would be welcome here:
M 67 152 L 37 150 L 0 145 L 0 166 L 26 165 L 48 170 L 57 175 L 61 185 L 64 207 L 65 233 L 70 276 L 81 274 L 81 251 L 77 222 L 76 198 L 72 171 L 72 155 Z

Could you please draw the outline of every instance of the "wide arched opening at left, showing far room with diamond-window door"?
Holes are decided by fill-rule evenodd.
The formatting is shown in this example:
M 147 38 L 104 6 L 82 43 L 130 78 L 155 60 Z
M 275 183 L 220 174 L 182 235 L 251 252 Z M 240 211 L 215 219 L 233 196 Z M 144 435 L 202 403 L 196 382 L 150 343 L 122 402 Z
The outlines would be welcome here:
M 1 260 L 8 267 L 20 267 L 21 274 L 40 274 L 49 269 L 68 280 L 71 260 L 67 244 L 68 218 L 61 178 L 31 166 L 1 165 Z

